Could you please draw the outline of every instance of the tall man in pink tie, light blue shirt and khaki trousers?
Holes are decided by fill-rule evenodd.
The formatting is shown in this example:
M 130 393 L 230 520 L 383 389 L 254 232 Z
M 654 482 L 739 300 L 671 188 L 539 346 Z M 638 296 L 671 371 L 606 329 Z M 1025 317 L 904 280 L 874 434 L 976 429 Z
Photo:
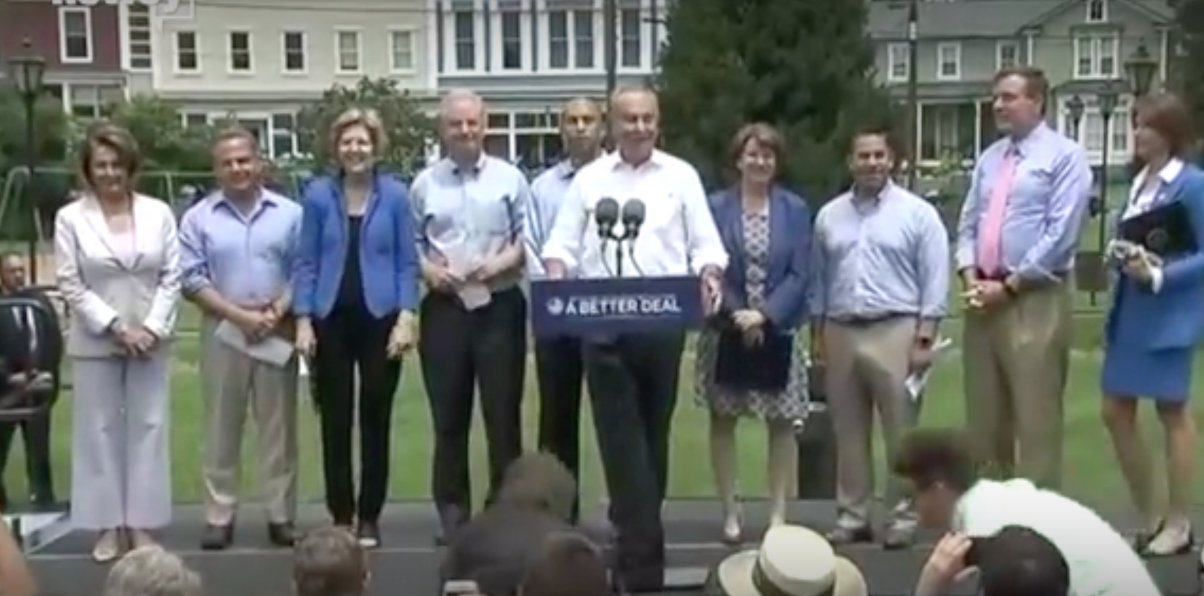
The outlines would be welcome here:
M 993 472 L 1057 488 L 1074 253 L 1091 195 L 1082 147 L 1045 124 L 1049 81 L 995 76 L 1007 136 L 982 153 L 957 225 L 966 413 Z M 1020 453 L 1019 470 L 1016 452 Z

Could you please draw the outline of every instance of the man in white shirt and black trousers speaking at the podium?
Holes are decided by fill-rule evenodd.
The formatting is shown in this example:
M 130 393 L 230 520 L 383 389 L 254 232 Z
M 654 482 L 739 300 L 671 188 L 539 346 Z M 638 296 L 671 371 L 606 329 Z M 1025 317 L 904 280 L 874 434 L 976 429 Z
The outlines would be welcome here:
M 703 305 L 718 302 L 727 266 L 698 172 L 656 149 L 656 94 L 621 88 L 610 98 L 616 151 L 582 169 L 543 247 L 548 277 L 701 277 Z M 600 202 L 642 205 L 639 234 L 622 256 L 600 240 Z M 628 219 L 624 217 L 621 219 Z M 618 224 L 621 230 L 621 223 Z M 625 261 L 625 262 L 624 262 Z M 709 313 L 708 313 L 709 314 Z M 661 504 L 684 330 L 622 334 L 583 342 L 598 450 L 616 530 L 615 579 L 631 592 L 663 585 Z

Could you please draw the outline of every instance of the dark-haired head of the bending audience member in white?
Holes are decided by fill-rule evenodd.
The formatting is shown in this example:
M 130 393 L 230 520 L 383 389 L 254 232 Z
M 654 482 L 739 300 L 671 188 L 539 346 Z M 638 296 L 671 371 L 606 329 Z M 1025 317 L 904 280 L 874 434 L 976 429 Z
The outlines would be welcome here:
M 957 500 L 978 482 L 968 437 L 950 429 L 917 429 L 903 437 L 891 468 L 911 484 L 916 514 L 928 527 L 949 527 Z

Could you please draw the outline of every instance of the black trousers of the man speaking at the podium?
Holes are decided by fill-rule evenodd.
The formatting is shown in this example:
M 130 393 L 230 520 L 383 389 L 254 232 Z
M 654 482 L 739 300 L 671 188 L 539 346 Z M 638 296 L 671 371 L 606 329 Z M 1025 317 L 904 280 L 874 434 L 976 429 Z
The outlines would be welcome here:
M 663 584 L 661 506 L 684 343 L 683 334 L 671 332 L 585 340 L 583 346 L 610 521 L 618 532 L 614 571 L 630 591 Z

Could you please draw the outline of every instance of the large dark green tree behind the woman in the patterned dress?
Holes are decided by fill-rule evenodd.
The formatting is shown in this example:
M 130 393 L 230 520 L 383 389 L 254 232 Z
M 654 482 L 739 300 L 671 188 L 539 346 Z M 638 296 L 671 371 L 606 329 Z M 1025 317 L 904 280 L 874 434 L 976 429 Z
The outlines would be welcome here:
M 712 187 L 726 183 L 740 125 L 773 124 L 789 143 L 784 182 L 822 201 L 846 182 L 855 128 L 887 125 L 873 81 L 867 2 L 690 0 L 672 4 L 657 81 L 665 141 Z

